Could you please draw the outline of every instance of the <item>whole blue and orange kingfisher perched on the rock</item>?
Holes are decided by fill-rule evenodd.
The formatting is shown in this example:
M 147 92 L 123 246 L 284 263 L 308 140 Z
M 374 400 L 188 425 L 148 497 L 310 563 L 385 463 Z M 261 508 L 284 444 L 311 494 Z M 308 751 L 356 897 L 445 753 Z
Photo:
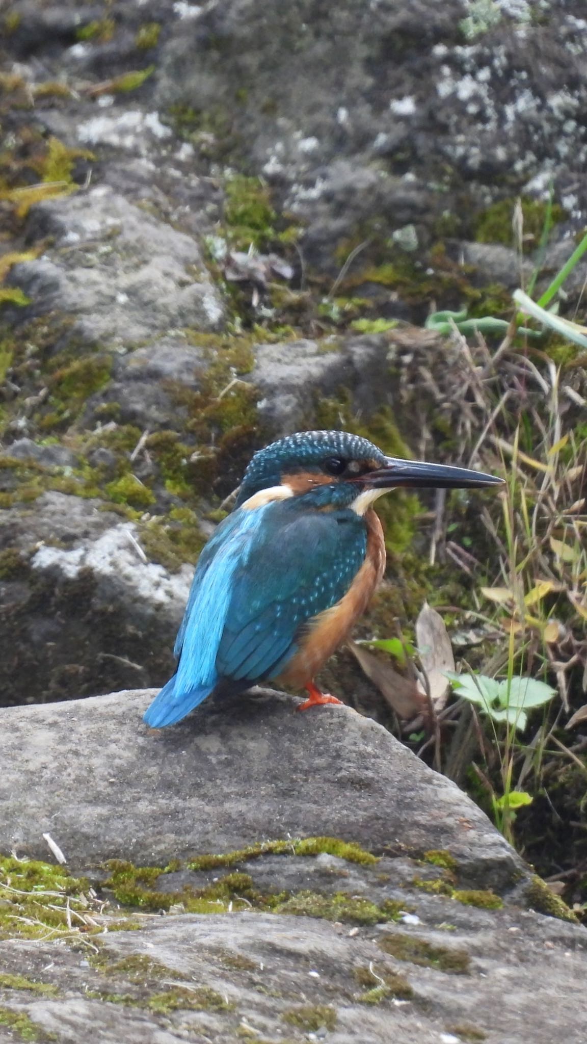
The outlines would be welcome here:
M 208 696 L 260 682 L 341 704 L 314 675 L 349 635 L 385 568 L 373 504 L 396 488 L 480 489 L 493 475 L 386 456 L 347 431 L 299 431 L 252 457 L 232 512 L 204 547 L 174 646 L 177 670 L 144 714 L 181 721 Z

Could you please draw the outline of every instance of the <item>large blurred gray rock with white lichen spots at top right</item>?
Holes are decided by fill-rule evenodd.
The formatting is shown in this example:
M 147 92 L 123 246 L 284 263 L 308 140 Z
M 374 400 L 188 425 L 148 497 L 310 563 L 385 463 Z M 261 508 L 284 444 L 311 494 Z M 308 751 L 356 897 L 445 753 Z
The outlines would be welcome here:
M 389 235 L 422 222 L 430 241 L 441 210 L 466 226 L 500 179 L 509 194 L 542 197 L 554 179 L 579 228 L 583 6 L 548 4 L 539 20 L 525 2 L 492 9 L 484 20 L 461 0 L 324 10 L 302 0 L 284 14 L 219 0 L 172 30 L 159 103 L 210 114 L 220 147 L 245 155 L 309 222 L 319 263 L 331 265 L 335 238 L 361 228 Z

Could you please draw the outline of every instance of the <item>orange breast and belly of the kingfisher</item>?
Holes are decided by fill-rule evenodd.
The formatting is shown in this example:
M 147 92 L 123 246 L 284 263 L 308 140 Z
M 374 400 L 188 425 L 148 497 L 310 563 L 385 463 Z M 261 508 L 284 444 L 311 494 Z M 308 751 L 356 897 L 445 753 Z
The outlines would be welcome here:
M 373 509 L 365 515 L 367 554 L 347 593 L 330 609 L 304 625 L 299 651 L 279 677 L 279 682 L 301 689 L 348 637 L 365 612 L 385 569 L 385 542 L 381 523 Z

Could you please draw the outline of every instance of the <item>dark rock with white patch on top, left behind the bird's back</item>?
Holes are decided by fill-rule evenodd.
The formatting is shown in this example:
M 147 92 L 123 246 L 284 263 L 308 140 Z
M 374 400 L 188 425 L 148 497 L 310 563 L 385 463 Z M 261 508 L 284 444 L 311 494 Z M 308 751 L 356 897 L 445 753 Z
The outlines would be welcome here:
M 172 671 L 193 569 L 143 561 L 138 527 L 102 508 L 48 492 L 2 512 L 0 551 L 20 550 L 22 568 L 0 578 L 0 703 L 162 684 Z

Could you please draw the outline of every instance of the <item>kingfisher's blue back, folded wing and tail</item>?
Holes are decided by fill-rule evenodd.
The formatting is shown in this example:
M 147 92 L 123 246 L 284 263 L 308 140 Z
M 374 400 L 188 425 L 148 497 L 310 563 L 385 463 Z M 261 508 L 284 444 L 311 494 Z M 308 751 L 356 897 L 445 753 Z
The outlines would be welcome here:
M 277 677 L 297 649 L 300 624 L 343 597 L 366 550 L 362 520 L 349 511 L 274 501 L 229 516 L 199 557 L 175 643 L 178 671 L 145 721 L 181 720 L 220 678 Z

